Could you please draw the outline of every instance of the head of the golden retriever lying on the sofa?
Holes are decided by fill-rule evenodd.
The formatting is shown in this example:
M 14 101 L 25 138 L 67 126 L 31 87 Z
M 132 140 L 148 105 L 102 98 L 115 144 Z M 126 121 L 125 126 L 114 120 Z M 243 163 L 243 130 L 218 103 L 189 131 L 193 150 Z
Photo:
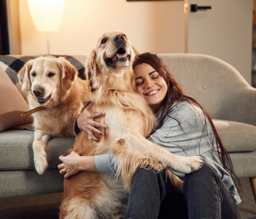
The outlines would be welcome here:
M 18 73 L 22 90 L 30 91 L 40 105 L 59 102 L 77 75 L 76 68 L 63 57 L 32 59 Z

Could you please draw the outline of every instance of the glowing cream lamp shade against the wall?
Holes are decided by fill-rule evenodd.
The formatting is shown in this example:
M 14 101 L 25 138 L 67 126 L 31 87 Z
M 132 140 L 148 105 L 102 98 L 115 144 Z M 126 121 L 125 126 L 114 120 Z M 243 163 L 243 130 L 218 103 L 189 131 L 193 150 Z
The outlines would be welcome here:
M 57 32 L 65 0 L 27 0 L 31 18 L 38 31 Z

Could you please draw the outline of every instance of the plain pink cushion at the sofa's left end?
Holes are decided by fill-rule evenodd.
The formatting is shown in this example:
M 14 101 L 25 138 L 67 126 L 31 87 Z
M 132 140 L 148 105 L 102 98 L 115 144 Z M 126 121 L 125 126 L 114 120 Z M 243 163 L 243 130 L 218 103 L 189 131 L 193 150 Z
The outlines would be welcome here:
M 0 132 L 14 126 L 32 123 L 31 116 L 21 117 L 29 105 L 0 66 Z

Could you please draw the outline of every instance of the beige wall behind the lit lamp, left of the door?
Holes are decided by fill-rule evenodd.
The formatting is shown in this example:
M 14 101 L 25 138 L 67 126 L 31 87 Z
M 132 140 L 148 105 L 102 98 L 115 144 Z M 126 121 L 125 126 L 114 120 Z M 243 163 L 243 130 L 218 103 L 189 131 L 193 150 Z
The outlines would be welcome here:
M 59 32 L 49 33 L 50 54 L 87 54 L 103 32 L 121 30 L 140 51 L 184 53 L 184 1 L 65 0 Z M 23 55 L 47 53 L 46 33 L 19 0 Z

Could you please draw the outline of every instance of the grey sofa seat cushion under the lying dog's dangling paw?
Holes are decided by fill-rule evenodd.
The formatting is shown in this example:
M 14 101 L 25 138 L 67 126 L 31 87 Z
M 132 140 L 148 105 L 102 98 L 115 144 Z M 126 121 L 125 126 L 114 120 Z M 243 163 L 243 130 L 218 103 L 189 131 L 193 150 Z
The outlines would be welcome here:
M 35 169 L 33 155 L 34 131 L 7 130 L 0 132 L 0 170 Z M 67 155 L 74 146 L 75 138 L 54 137 L 45 149 L 48 169 L 57 168 L 59 156 Z

